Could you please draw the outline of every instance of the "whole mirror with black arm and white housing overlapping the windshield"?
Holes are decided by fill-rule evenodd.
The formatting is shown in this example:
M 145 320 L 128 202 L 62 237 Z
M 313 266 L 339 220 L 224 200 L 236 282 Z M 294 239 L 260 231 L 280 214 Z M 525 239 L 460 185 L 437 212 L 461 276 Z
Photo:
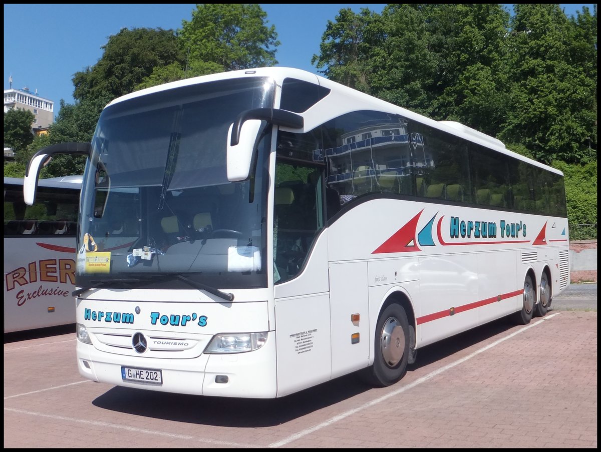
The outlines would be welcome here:
M 302 129 L 305 124 L 301 115 L 276 108 L 255 108 L 240 113 L 227 134 L 227 179 L 230 182 L 248 179 L 261 121 L 290 129 Z

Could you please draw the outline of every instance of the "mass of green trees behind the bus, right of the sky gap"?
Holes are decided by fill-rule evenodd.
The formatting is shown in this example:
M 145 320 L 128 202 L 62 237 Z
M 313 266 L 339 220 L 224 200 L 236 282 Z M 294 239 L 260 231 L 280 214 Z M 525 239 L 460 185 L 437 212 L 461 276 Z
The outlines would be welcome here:
M 327 78 L 567 165 L 570 223 L 596 223 L 596 5 L 570 18 L 557 4 L 516 4 L 511 15 L 498 4 L 345 8 L 311 62 Z

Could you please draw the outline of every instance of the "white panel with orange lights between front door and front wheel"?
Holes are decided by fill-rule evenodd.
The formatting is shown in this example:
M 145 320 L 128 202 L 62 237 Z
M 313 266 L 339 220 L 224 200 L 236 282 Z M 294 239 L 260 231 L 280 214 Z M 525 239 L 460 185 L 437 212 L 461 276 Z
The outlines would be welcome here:
M 367 262 L 330 265 L 332 378 L 367 367 L 370 350 Z M 353 322 L 352 316 L 359 319 Z M 355 336 L 353 336 L 355 335 Z

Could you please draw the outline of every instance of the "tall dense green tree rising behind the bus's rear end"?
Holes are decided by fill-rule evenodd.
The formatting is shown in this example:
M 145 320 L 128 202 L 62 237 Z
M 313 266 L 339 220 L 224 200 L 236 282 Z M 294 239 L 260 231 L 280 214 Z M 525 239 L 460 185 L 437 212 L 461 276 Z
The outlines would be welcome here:
M 584 143 L 596 130 L 596 75 L 572 63 L 575 23 L 557 4 L 516 4 L 514 11 L 505 64 L 509 105 L 499 138 L 523 142 L 544 163 L 595 158 Z

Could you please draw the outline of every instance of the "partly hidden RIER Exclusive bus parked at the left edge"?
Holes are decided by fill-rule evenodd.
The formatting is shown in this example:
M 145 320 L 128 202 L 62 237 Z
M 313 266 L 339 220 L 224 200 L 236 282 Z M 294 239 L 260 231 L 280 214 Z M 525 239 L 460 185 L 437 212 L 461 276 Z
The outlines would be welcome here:
M 40 180 L 35 204 L 23 179 L 4 178 L 4 332 L 75 325 L 75 236 L 81 176 Z

